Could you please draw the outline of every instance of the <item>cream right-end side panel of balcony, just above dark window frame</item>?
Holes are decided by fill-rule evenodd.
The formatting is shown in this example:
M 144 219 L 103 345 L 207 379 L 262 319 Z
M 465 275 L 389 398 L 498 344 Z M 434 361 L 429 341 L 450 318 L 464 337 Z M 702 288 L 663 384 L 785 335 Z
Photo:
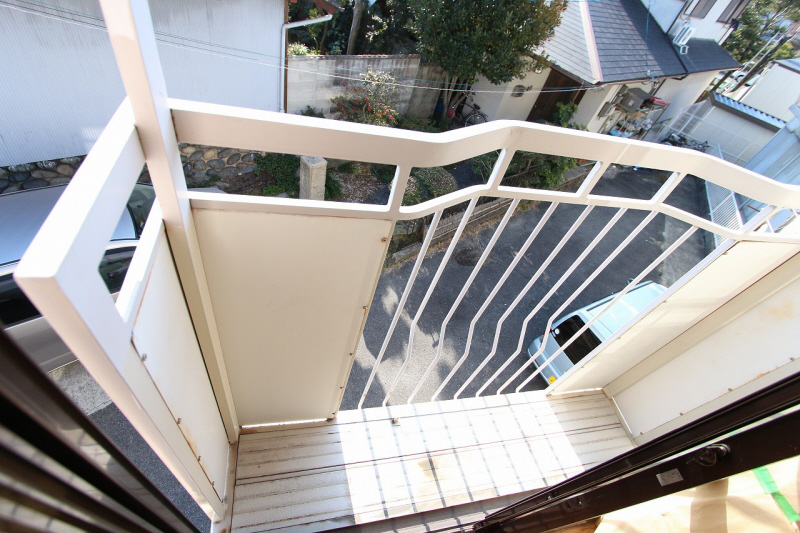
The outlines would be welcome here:
M 717 312 L 724 325 L 614 395 L 634 436 L 644 442 L 798 370 L 796 263 L 781 267 L 782 279 L 795 281 L 781 288 L 765 280 L 742 293 Z

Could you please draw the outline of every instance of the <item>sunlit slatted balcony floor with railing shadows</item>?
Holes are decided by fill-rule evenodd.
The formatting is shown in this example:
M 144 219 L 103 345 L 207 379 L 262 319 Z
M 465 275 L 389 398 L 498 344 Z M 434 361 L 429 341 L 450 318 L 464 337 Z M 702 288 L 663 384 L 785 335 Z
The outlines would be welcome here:
M 330 423 L 242 435 L 232 529 L 320 531 L 488 500 L 631 447 L 600 392 L 343 411 Z

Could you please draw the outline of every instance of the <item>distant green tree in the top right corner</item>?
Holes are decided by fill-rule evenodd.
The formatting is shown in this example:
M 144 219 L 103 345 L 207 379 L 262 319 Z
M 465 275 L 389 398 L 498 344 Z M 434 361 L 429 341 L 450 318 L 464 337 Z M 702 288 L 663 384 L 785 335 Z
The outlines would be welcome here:
M 724 47 L 740 63 L 753 58 L 770 37 L 785 26 L 800 20 L 800 0 L 754 0 L 742 13 L 739 28 L 725 41 Z M 794 49 L 788 42 L 775 51 L 772 59 L 788 59 Z

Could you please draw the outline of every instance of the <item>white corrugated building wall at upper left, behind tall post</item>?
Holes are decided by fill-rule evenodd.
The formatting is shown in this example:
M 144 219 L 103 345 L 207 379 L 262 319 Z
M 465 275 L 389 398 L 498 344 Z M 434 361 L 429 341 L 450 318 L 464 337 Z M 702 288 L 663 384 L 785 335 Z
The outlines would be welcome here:
M 86 154 L 125 96 L 96 0 L 0 5 L 0 166 Z M 151 0 L 171 97 L 278 109 L 282 0 Z

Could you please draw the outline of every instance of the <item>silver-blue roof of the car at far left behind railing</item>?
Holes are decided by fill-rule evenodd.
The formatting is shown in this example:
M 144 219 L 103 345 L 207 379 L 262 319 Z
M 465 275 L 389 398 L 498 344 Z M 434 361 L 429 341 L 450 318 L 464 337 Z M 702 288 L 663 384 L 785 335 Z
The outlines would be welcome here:
M 0 265 L 22 258 L 65 188 L 66 185 L 54 185 L 0 195 Z M 136 239 L 127 208 L 111 239 Z

